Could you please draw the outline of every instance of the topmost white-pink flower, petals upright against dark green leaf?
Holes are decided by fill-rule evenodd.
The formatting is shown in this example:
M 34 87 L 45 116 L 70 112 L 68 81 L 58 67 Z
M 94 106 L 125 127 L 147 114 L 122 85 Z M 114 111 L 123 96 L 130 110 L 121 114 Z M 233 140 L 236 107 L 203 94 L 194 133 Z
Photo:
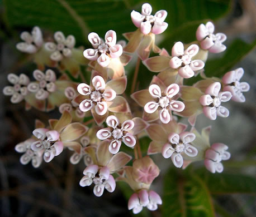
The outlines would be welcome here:
M 131 20 L 134 25 L 140 28 L 143 34 L 160 34 L 168 27 L 168 23 L 164 22 L 167 17 L 167 11 L 160 10 L 155 15 L 151 15 L 152 7 L 149 3 L 143 4 L 141 14 L 136 11 L 131 12 Z

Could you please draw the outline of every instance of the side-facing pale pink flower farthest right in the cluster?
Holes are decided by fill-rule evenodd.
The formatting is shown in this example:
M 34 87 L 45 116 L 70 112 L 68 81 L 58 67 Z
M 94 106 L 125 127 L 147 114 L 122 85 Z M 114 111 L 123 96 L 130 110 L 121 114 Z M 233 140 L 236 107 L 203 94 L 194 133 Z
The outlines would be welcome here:
M 225 85 L 223 90 L 231 92 L 231 100 L 236 102 L 245 102 L 243 92 L 247 92 L 250 89 L 250 86 L 247 82 L 240 82 L 240 79 L 243 77 L 243 75 L 243 68 L 237 68 L 236 70 L 227 72 L 222 77 L 222 82 Z

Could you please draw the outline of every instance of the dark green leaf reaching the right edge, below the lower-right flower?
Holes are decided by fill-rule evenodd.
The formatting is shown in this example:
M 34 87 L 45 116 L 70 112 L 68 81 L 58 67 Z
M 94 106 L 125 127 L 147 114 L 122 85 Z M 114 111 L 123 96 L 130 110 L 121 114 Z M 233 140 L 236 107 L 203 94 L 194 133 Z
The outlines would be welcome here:
M 198 171 L 196 171 L 198 173 Z M 211 174 L 199 171 L 211 194 L 256 194 L 256 178 L 243 174 Z

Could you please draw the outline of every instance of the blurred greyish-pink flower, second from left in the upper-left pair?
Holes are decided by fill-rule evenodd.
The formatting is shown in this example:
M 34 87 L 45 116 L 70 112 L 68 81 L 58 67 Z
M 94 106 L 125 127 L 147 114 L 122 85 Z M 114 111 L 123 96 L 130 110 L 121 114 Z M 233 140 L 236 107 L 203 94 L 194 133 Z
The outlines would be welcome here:
M 75 46 L 75 37 L 69 35 L 65 38 L 63 32 L 54 33 L 54 42 L 46 42 L 45 49 L 51 52 L 50 58 L 53 61 L 61 61 L 64 57 L 72 56 L 72 49 Z

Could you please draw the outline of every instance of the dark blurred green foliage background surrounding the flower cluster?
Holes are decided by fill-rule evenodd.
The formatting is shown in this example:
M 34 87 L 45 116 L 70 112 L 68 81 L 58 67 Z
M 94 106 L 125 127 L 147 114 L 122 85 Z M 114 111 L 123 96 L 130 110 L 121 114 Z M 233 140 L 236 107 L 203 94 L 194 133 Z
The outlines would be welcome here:
M 246 67 L 248 70 L 246 73 L 249 76 L 245 78 L 250 80 L 251 93 L 246 97 L 247 101 L 249 98 L 248 104 L 231 105 L 238 107 L 243 114 L 232 108 L 234 119 L 224 120 L 225 125 L 217 122 L 217 127 L 212 130 L 219 129 L 211 136 L 211 144 L 215 141 L 225 143 L 227 140 L 226 144 L 233 155 L 224 164 L 224 172 L 210 174 L 201 168 L 202 164 L 177 170 L 167 165 L 161 156 L 155 156 L 154 160 L 162 172 L 153 188 L 162 195 L 163 205 L 157 211 L 150 213 L 144 210 L 137 216 L 253 216 L 256 211 L 255 82 L 252 81 L 255 78 L 255 51 L 253 56 L 251 54 L 245 58 L 246 61 L 240 61 L 255 48 L 255 1 L 148 2 L 153 6 L 153 14 L 160 9 L 168 12 L 165 20 L 169 24 L 168 29 L 163 35 L 157 36 L 159 46 L 165 47 L 168 52 L 177 41 L 195 41 L 195 32 L 200 23 L 214 21 L 216 32 L 227 34 L 227 50 L 221 55 L 210 55 L 205 66 L 206 75 L 220 77 L 231 68 L 244 65 L 245 71 Z M 35 69 L 27 62 L 26 55 L 15 50 L 15 44 L 20 41 L 20 32 L 30 31 L 33 26 L 42 28 L 46 37 L 55 31 L 63 31 L 66 36 L 75 36 L 76 46 L 88 48 L 91 47 L 87 40 L 89 32 L 97 32 L 103 37 L 106 31 L 113 29 L 117 32 L 117 39 L 121 40 L 124 39 L 122 33 L 135 31 L 130 13 L 132 9 L 140 12 L 143 3 L 135 0 L 0 0 L 1 90 L 6 85 L 8 73 L 31 73 Z M 131 79 L 134 64 L 131 63 L 126 70 Z M 139 88 L 146 88 L 153 75 L 141 65 Z M 191 78 L 187 84 L 191 85 L 199 79 L 200 76 Z M 131 82 L 128 88 L 130 85 Z M 0 110 L 0 216 L 132 216 L 127 210 L 127 199 L 132 194 L 129 186 L 121 183 L 114 193 L 105 193 L 101 198 L 96 198 L 92 188 L 80 188 L 78 183 L 84 166 L 70 165 L 68 152 L 39 169 L 21 165 L 14 146 L 30 137 L 35 119 L 46 122 L 49 117 L 56 118 L 58 113 L 26 112 L 23 105 L 11 105 L 7 97 L 1 96 L 0 99 L 3 105 Z M 236 115 L 240 115 L 239 118 Z M 244 121 L 243 124 L 240 120 Z M 203 120 L 199 124 L 206 126 L 209 123 Z M 218 135 L 220 132 L 225 135 L 224 141 Z M 239 133 L 235 135 L 235 132 Z M 248 138 L 244 139 L 246 136 Z M 145 152 L 149 141 L 140 141 Z

